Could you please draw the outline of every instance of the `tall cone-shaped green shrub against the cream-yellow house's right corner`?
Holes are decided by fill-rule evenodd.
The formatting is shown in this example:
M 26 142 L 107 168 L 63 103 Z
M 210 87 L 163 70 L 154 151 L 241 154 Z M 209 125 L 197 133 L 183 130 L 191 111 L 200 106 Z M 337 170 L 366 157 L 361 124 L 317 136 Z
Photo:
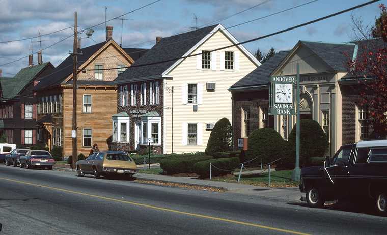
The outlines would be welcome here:
M 224 117 L 216 122 L 207 142 L 206 155 L 232 150 L 232 126 Z

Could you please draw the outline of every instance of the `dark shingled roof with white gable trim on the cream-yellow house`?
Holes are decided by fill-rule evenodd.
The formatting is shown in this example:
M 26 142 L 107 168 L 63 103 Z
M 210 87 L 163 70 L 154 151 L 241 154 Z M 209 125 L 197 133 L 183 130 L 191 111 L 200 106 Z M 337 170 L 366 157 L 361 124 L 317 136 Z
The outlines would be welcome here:
M 125 83 L 128 80 L 137 78 L 152 79 L 163 77 L 168 71 L 171 71 L 177 64 L 184 60 L 178 58 L 189 55 L 218 30 L 222 30 L 234 43 L 238 42 L 221 24 L 207 26 L 171 37 L 165 37 L 149 49 L 143 57 L 135 61 L 132 65 L 133 67 L 120 74 L 120 76 L 115 80 L 115 83 Z M 248 52 L 243 45 L 238 45 L 237 47 L 250 57 L 253 63 L 257 66 L 260 65 L 256 58 Z M 177 59 L 174 60 L 175 58 Z M 167 60 L 171 61 L 158 63 Z

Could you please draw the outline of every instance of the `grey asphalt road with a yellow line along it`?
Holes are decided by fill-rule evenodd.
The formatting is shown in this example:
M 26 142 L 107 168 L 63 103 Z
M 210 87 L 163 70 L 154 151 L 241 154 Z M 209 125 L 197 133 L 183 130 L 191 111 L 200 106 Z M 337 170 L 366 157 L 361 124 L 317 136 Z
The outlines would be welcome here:
M 387 218 L 0 165 L 0 234 L 386 234 Z

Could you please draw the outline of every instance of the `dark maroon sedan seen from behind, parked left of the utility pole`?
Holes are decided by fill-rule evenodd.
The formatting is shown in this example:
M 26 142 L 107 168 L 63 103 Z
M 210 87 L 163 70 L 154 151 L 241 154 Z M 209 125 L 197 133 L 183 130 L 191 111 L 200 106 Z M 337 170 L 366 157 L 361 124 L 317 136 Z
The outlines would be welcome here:
M 47 168 L 52 170 L 55 160 L 50 152 L 46 150 L 29 150 L 24 156 L 20 156 L 20 168 L 30 169 L 32 167 Z

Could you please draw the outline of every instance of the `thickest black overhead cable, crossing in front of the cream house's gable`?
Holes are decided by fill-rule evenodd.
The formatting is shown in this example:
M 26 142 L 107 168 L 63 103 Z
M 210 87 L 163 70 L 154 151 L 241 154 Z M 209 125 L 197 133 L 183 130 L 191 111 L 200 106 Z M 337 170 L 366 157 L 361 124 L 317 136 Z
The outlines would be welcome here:
M 309 25 L 309 24 L 313 24 L 313 23 L 316 23 L 316 22 L 319 22 L 319 21 L 322 21 L 322 20 L 325 20 L 325 19 L 337 16 L 337 15 L 341 15 L 343 13 L 346 13 L 346 12 L 355 10 L 357 8 L 361 8 L 361 7 L 370 5 L 370 4 L 378 2 L 378 1 L 379 0 L 372 0 L 372 1 L 360 4 L 360 5 L 357 5 L 357 6 L 354 6 L 354 7 L 351 7 L 351 8 L 348 8 L 348 9 L 345 9 L 345 10 L 342 10 L 342 11 L 339 11 L 339 12 L 327 15 L 327 16 L 324 16 L 324 17 L 317 18 L 315 20 L 311 20 L 311 21 L 308 21 L 308 22 L 305 22 L 305 23 L 302 23 L 302 24 L 298 24 L 298 25 L 286 28 L 284 30 L 280 30 L 280 31 L 277 31 L 277 32 L 274 32 L 274 33 L 271 33 L 271 34 L 267 34 L 267 35 L 264 35 L 264 36 L 261 36 L 261 37 L 257 37 L 257 38 L 253 38 L 253 39 L 250 39 L 250 40 L 246 40 L 246 41 L 243 41 L 243 42 L 234 43 L 234 44 L 229 45 L 229 46 L 224 46 L 224 47 L 216 48 L 216 49 L 210 50 L 209 52 L 218 51 L 218 50 L 224 50 L 224 49 L 227 49 L 227 48 L 230 48 L 230 47 L 235 47 L 235 46 L 238 46 L 238 45 L 246 44 L 246 43 L 249 43 L 249 42 L 254 42 L 254 41 L 261 40 L 261 39 L 264 39 L 264 38 L 268 38 L 268 37 L 271 37 L 271 36 L 274 36 L 274 35 L 282 34 L 282 33 L 288 32 L 288 31 L 292 31 L 292 30 L 295 30 L 296 28 L 300 28 L 300 27 L 303 27 L 303 26 L 306 26 L 306 25 Z M 177 61 L 177 60 L 181 60 L 181 59 L 185 59 L 185 58 L 189 58 L 189 57 L 193 57 L 193 56 L 198 56 L 198 55 L 201 55 L 201 54 L 202 53 L 200 52 L 200 53 L 197 53 L 197 54 L 191 54 L 191 55 L 171 58 L 169 60 L 156 61 L 156 62 L 142 64 L 142 65 L 126 66 L 126 67 L 123 67 L 123 68 L 129 68 L 129 67 L 134 68 L 134 67 L 144 67 L 144 66 L 148 66 L 148 65 L 156 65 L 156 64 L 161 64 L 161 63 L 165 63 L 165 62 Z M 88 69 L 88 70 L 85 70 L 85 71 L 113 70 L 113 69 L 117 69 L 117 68 Z

